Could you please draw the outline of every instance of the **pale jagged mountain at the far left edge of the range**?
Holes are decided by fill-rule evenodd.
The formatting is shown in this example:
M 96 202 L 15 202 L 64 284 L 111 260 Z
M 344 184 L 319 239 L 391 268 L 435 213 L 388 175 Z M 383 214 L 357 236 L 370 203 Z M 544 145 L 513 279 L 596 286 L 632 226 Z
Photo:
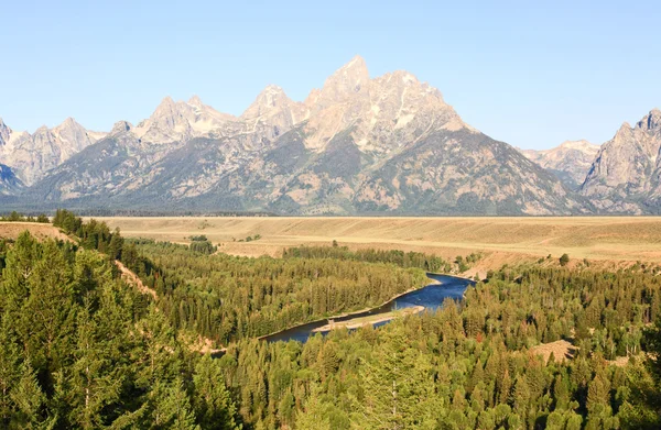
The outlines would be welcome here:
M 33 134 L 14 132 L 0 119 L 0 163 L 11 166 L 18 178 L 32 185 L 104 135 L 85 130 L 73 118 L 53 129 L 42 126 Z

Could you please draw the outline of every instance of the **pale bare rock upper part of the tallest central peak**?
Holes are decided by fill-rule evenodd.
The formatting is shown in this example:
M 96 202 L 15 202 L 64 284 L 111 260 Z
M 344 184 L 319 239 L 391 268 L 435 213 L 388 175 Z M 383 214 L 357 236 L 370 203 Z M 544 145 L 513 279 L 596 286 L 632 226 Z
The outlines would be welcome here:
M 437 89 L 407 71 L 369 79 L 361 57 L 333 74 L 305 104 L 311 110 L 306 146 L 315 151 L 348 128 L 358 147 L 376 156 L 397 151 L 432 129 L 468 128 Z

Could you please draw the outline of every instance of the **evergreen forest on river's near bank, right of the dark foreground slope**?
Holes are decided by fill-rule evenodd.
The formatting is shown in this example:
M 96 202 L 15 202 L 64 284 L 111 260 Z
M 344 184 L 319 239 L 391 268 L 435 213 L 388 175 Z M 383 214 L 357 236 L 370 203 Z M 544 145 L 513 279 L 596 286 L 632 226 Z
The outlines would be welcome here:
M 639 272 L 505 268 L 460 306 L 305 344 L 245 340 L 220 362 L 256 428 L 657 429 L 661 366 L 640 351 L 661 351 L 659 330 L 643 335 L 660 285 Z M 576 342 L 573 359 L 530 352 L 560 338 Z

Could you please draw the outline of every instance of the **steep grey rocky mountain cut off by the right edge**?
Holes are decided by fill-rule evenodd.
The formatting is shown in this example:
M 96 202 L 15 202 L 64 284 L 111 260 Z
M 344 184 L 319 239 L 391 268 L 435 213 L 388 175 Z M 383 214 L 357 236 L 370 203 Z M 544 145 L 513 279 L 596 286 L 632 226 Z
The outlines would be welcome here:
M 603 212 L 659 213 L 661 111 L 624 123 L 598 152 L 579 192 Z

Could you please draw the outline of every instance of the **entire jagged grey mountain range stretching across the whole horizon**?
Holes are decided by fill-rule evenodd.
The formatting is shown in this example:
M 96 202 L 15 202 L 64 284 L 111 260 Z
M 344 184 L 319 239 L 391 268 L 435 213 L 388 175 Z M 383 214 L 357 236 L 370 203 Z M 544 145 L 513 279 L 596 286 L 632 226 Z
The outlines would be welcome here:
M 600 148 L 566 142 L 520 152 L 466 124 L 413 75 L 371 78 L 357 56 L 304 101 L 270 85 L 239 117 L 198 97 L 167 97 L 148 119 L 108 133 L 73 119 L 17 133 L 0 120 L 0 202 L 282 214 L 654 212 L 658 112 Z M 631 166 L 614 167 L 627 163 L 644 180 Z

